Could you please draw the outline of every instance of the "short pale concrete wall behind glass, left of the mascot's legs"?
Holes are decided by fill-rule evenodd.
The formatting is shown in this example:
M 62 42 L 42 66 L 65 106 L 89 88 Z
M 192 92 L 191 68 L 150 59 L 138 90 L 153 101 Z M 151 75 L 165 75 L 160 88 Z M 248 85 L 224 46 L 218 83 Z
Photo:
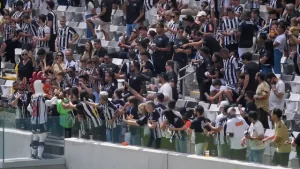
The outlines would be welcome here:
M 0 159 L 30 157 L 31 132 L 19 131 L 14 129 L 4 130 L 3 148 L 3 129 L 0 129 Z

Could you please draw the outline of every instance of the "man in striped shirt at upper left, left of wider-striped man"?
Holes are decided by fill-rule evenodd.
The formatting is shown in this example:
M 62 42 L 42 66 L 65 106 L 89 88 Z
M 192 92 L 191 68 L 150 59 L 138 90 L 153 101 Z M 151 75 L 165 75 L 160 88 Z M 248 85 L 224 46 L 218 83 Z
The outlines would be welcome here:
M 37 36 L 33 37 L 33 40 L 37 43 L 37 48 L 44 48 L 49 51 L 49 40 L 50 40 L 50 28 L 45 24 L 46 15 L 39 15 L 39 28 Z

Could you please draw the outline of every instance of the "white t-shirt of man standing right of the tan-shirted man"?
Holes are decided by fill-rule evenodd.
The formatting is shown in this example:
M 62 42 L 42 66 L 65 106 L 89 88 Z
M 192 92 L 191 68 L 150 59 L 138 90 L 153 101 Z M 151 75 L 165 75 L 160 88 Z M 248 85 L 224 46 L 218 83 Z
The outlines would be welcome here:
M 285 84 L 280 79 L 276 83 L 276 90 L 277 90 L 277 93 L 285 93 Z M 274 108 L 277 108 L 280 110 L 284 109 L 284 98 L 279 99 L 275 95 L 273 89 L 271 89 L 271 91 L 270 91 L 269 106 L 270 106 L 270 110 L 273 110 Z

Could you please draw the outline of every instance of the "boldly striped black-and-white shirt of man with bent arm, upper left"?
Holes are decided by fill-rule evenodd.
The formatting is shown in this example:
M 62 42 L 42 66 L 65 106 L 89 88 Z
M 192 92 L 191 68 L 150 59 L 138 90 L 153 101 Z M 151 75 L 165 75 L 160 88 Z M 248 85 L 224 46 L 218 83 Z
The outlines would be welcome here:
M 59 50 L 64 50 L 68 48 L 68 45 L 70 41 L 72 41 L 72 38 L 74 35 L 76 35 L 77 32 L 69 26 L 66 26 L 64 28 L 59 28 L 58 30 L 58 49 Z

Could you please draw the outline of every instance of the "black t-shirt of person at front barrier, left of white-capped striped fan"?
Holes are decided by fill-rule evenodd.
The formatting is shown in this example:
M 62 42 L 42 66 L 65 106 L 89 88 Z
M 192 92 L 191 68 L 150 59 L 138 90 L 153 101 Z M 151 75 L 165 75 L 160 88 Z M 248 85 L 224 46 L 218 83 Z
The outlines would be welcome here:
M 206 141 L 206 136 L 204 135 L 205 123 L 210 122 L 209 119 L 205 117 L 196 117 L 192 122 L 190 129 L 195 131 L 195 143 L 204 143 Z

